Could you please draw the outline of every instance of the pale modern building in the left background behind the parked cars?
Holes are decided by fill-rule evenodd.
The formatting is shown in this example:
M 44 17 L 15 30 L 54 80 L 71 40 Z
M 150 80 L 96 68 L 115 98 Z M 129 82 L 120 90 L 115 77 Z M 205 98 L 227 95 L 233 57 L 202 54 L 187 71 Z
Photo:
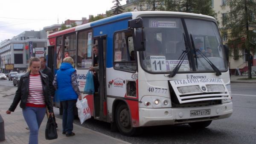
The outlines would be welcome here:
M 44 30 L 24 31 L 12 40 L 4 40 L 0 43 L 0 70 L 2 73 L 26 71 L 30 57 L 35 56 L 38 48 L 43 48 L 45 54 L 46 42 Z M 9 65 L 13 65 L 12 69 L 6 67 Z

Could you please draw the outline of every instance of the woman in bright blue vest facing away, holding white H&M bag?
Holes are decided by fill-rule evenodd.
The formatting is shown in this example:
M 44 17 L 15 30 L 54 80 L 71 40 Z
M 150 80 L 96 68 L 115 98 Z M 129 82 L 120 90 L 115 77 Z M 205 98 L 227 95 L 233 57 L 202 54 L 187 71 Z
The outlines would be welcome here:
M 56 88 L 63 107 L 62 134 L 74 136 L 73 120 L 74 110 L 77 98 L 81 100 L 81 93 L 77 83 L 76 70 L 73 68 L 74 60 L 68 56 L 63 59 L 60 69 L 57 71 L 53 85 Z

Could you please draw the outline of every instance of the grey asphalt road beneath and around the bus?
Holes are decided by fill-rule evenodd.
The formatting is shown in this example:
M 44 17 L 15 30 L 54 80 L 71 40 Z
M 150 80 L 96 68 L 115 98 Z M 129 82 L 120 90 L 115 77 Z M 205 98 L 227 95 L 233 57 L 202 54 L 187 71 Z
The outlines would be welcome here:
M 16 89 L 12 81 L 0 80 L 1 95 Z M 119 132 L 111 132 L 110 124 L 94 119 L 87 120 L 82 126 L 131 143 L 256 144 L 256 83 L 232 83 L 231 89 L 232 116 L 228 119 L 212 121 L 212 124 L 203 130 L 192 129 L 188 124 L 145 127 L 142 135 L 127 137 Z M 13 97 L 13 95 L 6 96 L 8 99 Z M 54 111 L 58 116 L 58 109 Z M 74 123 L 81 125 L 78 119 Z

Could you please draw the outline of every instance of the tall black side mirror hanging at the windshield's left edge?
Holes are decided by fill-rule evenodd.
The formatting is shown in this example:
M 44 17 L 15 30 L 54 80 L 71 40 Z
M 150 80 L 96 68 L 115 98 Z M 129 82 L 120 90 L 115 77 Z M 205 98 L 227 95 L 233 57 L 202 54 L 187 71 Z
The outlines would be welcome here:
M 143 29 L 139 28 L 135 31 L 135 48 L 136 51 L 145 51 Z

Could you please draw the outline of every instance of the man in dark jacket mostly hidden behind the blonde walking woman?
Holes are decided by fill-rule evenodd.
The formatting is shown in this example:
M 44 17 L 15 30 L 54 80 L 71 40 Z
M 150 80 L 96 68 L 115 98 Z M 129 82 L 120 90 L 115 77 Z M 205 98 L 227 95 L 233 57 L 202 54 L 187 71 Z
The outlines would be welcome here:
M 46 66 L 46 58 L 44 56 L 41 56 L 40 60 L 41 60 L 41 70 L 40 71 L 48 76 L 50 95 L 53 98 L 54 95 L 55 95 L 55 88 L 52 85 L 52 82 L 53 82 L 53 79 L 54 79 L 52 70 Z M 47 117 L 48 117 L 48 115 L 47 115 Z M 54 113 L 53 113 L 53 119 L 55 121 L 56 127 L 58 127 L 57 123 L 56 123 L 56 120 L 55 120 Z

